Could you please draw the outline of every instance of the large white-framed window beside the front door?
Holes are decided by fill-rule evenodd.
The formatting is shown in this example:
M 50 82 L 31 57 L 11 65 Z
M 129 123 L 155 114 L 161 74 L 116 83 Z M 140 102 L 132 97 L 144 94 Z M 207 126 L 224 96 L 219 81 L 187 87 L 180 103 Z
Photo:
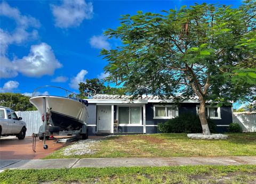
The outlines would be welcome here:
M 118 107 L 119 124 L 141 124 L 141 107 Z

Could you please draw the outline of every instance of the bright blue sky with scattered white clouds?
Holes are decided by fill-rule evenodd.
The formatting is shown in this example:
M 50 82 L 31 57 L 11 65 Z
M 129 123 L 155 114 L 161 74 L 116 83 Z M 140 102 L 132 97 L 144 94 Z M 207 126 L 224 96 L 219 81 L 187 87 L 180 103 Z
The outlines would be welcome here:
M 160 13 L 194 3 L 241 1 L 0 1 L 0 91 L 30 94 L 53 85 L 78 91 L 78 82 L 105 76 L 101 48 L 114 49 L 117 39 L 103 31 L 117 28 L 122 14 Z M 59 91 L 41 89 L 41 94 Z

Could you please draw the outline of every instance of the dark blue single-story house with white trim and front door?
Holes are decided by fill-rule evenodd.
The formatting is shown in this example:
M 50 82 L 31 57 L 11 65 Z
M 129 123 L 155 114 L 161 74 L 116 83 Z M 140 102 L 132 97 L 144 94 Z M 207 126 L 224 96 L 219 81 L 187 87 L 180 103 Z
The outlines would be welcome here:
M 89 102 L 89 135 L 113 133 L 114 122 L 118 122 L 119 133 L 157 133 L 157 124 L 189 112 L 196 114 L 199 107 L 197 97 L 190 97 L 179 106 L 174 99 L 163 100 L 157 96 L 142 96 L 131 100 L 129 96 L 98 94 Z M 217 124 L 217 131 L 227 130 L 233 121 L 232 105 L 206 106 L 206 115 Z M 116 131 L 115 131 L 116 132 Z

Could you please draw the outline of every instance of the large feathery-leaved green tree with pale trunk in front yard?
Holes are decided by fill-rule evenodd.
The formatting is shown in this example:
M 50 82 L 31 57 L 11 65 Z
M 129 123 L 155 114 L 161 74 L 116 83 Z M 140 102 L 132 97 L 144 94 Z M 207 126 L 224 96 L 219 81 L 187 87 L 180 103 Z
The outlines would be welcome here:
M 121 26 L 105 32 L 123 43 L 101 51 L 108 61 L 106 80 L 123 83 L 133 96 L 196 95 L 203 134 L 208 135 L 207 101 L 221 106 L 255 96 L 254 74 L 246 74 L 250 82 L 236 78 L 241 66 L 252 73 L 256 68 L 255 52 L 238 48 L 246 37 L 255 38 L 255 10 L 255 2 L 246 1 L 237 9 L 203 3 L 162 14 L 122 15 Z

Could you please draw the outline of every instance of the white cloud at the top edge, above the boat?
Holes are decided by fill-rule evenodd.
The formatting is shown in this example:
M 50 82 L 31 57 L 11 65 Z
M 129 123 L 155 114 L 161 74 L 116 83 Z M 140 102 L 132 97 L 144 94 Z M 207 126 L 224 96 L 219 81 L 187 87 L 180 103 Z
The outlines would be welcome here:
M 55 26 L 60 28 L 77 27 L 84 19 L 92 19 L 93 5 L 84 0 L 62 1 L 62 4 L 51 5 Z

